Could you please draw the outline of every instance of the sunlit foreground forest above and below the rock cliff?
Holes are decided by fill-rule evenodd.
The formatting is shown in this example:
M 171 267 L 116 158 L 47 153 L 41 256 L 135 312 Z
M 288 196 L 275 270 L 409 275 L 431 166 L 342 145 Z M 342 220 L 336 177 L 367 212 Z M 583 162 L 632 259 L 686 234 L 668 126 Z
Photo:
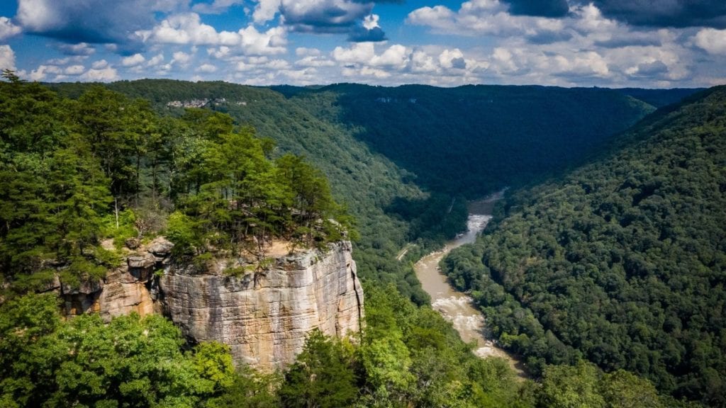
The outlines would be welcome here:
M 99 86 L 68 99 L 6 71 L 0 141 L 2 407 L 534 405 L 506 362 L 478 359 L 382 282 L 366 287 L 360 338 L 311 332 L 297 362 L 267 374 L 235 370 L 227 346 L 189 344 L 163 317 L 65 319 L 57 293 L 37 292 L 56 275 L 71 290 L 102 279 L 157 234 L 204 272 L 272 238 L 324 246 L 350 219 L 317 168 L 272 158 L 269 139 L 212 110 L 162 117 L 144 99 Z

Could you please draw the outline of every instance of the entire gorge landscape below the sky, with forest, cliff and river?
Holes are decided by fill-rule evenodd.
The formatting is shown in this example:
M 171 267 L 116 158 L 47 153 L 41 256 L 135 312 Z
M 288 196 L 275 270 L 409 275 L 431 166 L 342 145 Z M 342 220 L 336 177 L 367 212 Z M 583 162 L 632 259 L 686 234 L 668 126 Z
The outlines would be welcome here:
M 722 89 L 8 79 L 3 403 L 722 406 Z M 141 254 L 121 285 L 161 306 L 99 319 L 94 288 L 158 237 L 168 260 Z M 344 266 L 321 274 L 329 248 Z M 298 285 L 294 253 L 322 281 Z M 186 367 L 183 392 L 147 382 L 152 353 Z

